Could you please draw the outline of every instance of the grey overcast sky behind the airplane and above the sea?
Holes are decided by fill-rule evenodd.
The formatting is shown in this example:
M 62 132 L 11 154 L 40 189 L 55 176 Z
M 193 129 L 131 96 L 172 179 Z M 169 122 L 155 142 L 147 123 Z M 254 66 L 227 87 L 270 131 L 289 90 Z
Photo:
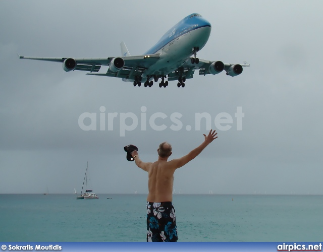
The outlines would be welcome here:
M 321 1 L 1 1 L 0 193 L 44 193 L 46 187 L 79 193 L 89 162 L 98 195 L 147 194 L 147 173 L 126 160 L 123 147 L 134 144 L 143 161 L 153 162 L 159 143 L 168 141 L 171 158 L 179 158 L 208 132 L 205 120 L 195 128 L 195 113 L 209 114 L 212 129 L 226 113 L 231 128 L 218 127 L 219 138 L 175 172 L 177 192 L 323 194 L 322 9 Z M 144 88 L 17 55 L 120 56 L 121 41 L 140 55 L 191 13 L 212 25 L 199 58 L 247 61 L 250 68 L 237 77 L 196 72 L 185 88 L 176 81 Z M 80 128 L 86 112 L 96 113 L 96 131 Z M 121 113 L 130 112 L 138 126 L 122 137 Z M 110 131 L 108 113 L 118 113 Z M 167 115 L 155 120 L 166 130 L 150 127 L 155 113 Z M 173 113 L 182 115 L 177 131 L 170 128 Z

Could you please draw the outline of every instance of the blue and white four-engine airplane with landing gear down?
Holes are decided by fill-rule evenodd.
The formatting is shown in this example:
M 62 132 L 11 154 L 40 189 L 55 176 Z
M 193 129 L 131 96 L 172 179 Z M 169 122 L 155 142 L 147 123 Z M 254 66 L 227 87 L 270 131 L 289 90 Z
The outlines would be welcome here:
M 178 87 L 185 87 L 185 81 L 199 75 L 216 75 L 223 70 L 228 76 L 242 73 L 244 64 L 226 64 L 220 60 L 199 59 L 197 52 L 206 44 L 211 32 L 211 24 L 200 14 L 193 13 L 173 26 L 159 41 L 143 55 L 131 56 L 124 42 L 121 42 L 121 57 L 72 58 L 72 57 L 25 57 L 19 58 L 56 61 L 63 63 L 66 72 L 80 70 L 87 75 L 108 76 L 133 82 L 134 86 L 151 87 L 161 79 L 159 87 L 167 87 L 169 81 L 177 80 Z M 104 74 L 99 74 L 101 66 L 109 66 Z M 94 73 L 93 73 L 94 72 Z M 167 80 L 166 80 L 167 79 Z

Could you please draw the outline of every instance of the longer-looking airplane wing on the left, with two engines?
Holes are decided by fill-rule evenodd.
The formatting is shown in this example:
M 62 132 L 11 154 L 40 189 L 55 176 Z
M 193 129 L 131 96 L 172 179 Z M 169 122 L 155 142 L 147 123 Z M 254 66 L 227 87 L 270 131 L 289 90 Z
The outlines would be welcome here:
M 107 57 L 107 58 L 67 58 L 67 57 L 26 57 L 24 59 L 35 59 L 44 61 L 61 62 L 66 72 L 80 70 L 87 72 L 98 72 L 101 66 L 109 66 L 105 74 L 88 74 L 99 76 L 119 77 L 134 79 L 135 75 L 141 75 L 145 69 L 155 64 L 159 58 L 159 53 L 127 57 Z

